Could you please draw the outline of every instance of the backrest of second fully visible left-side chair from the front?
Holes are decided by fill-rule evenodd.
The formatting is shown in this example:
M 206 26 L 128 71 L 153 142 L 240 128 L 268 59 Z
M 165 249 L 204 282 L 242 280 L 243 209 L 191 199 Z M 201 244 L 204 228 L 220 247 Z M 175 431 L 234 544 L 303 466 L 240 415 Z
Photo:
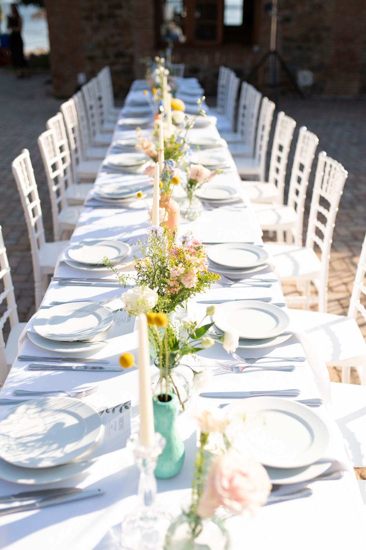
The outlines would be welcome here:
M 43 166 L 45 167 L 49 199 L 51 200 L 53 239 L 60 240 L 59 212 L 66 207 L 65 180 L 70 174 L 65 173 L 57 147 L 55 131 L 47 130 L 37 139 Z

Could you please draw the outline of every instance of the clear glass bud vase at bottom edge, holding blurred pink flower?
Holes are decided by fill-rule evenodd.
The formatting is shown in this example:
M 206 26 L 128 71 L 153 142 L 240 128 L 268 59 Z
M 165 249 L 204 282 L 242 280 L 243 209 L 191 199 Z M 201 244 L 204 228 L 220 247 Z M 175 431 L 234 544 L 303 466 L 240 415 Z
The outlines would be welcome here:
M 217 516 L 199 518 L 183 512 L 165 535 L 164 550 L 229 550 L 229 532 Z

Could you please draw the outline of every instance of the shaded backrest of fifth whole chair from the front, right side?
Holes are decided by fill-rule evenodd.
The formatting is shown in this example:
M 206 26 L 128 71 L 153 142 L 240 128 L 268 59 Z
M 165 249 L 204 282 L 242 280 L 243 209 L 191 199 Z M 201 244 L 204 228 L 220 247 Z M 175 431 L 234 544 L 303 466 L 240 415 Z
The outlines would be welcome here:
M 256 143 L 257 119 L 262 94 L 247 82 L 242 82 L 237 114 L 237 133 L 243 138 L 243 142 L 251 148 L 250 156 L 254 156 Z

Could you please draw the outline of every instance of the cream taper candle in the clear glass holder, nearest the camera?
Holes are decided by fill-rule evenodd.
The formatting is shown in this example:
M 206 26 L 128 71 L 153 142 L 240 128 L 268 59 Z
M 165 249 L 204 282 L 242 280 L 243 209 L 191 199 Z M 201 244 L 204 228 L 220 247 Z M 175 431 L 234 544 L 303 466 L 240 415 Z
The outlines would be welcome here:
M 140 444 L 152 447 L 155 428 L 145 313 L 140 313 L 138 316 L 138 379 L 140 384 Z

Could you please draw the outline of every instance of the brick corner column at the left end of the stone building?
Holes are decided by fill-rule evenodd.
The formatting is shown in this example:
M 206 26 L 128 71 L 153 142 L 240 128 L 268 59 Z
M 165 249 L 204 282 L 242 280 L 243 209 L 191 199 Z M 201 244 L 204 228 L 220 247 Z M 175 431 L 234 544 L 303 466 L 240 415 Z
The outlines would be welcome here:
M 79 0 L 45 0 L 53 94 L 70 97 L 77 73 L 84 72 Z

